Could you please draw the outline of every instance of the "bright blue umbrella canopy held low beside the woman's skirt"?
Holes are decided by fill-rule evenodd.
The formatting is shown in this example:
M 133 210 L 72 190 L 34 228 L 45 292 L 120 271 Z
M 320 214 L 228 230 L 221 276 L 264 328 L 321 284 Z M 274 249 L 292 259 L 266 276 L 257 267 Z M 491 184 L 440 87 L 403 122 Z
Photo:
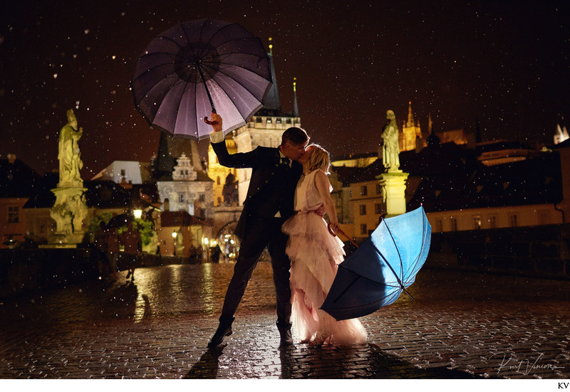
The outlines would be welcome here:
M 430 240 L 431 226 L 423 207 L 383 219 L 371 238 L 338 265 L 321 309 L 342 320 L 392 304 L 414 282 Z

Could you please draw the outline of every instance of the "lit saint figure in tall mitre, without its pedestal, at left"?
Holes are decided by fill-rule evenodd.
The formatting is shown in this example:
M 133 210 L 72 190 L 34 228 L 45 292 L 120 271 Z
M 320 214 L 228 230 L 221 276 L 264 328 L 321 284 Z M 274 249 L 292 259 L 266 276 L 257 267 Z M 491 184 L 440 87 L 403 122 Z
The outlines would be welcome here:
M 83 128 L 77 129 L 77 118 L 73 109 L 67 111 L 67 124 L 59 132 L 59 182 L 60 184 L 81 184 L 83 180 L 79 171 L 83 167 L 79 139 Z

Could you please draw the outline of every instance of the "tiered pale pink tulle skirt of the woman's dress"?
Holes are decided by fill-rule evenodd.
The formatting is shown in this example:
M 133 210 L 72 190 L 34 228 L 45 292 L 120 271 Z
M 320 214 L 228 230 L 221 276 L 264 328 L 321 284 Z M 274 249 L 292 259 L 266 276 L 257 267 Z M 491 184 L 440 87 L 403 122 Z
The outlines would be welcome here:
M 302 343 L 351 346 L 366 341 L 358 319 L 336 321 L 319 309 L 344 260 L 343 243 L 328 233 L 323 218 L 311 211 L 291 216 L 283 225 L 289 235 L 286 253 L 291 259 L 291 323 Z

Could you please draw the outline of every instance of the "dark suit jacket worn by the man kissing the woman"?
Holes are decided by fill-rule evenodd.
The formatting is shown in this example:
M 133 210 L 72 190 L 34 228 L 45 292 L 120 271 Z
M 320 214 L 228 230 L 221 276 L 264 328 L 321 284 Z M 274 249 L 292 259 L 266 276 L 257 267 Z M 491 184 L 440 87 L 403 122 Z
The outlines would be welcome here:
M 244 209 L 235 230 L 239 238 L 244 238 L 248 222 L 261 214 L 259 207 L 266 206 L 268 200 L 279 204 L 274 206 L 274 211 L 279 211 L 281 217 L 286 219 L 293 215 L 295 188 L 303 172 L 299 162 L 293 161 L 291 170 L 284 175 L 279 167 L 281 163 L 279 148 L 260 146 L 251 152 L 229 154 L 225 140 L 212 143 L 212 148 L 222 166 L 252 168 Z

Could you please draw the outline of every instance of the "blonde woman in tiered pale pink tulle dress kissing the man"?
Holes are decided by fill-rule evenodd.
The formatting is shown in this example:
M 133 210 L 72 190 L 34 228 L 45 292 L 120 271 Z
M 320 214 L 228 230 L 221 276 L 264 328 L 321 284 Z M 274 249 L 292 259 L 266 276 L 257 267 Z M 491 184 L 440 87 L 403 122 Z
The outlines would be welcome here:
M 336 209 L 328 181 L 330 158 L 318 144 L 310 144 L 299 158 L 304 173 L 295 191 L 295 211 L 282 227 L 289 235 L 286 253 L 291 259 L 291 323 L 301 343 L 337 346 L 363 344 L 366 329 L 358 319 L 336 321 L 320 309 L 344 260 L 343 243 L 328 233 L 326 222 L 313 213 L 323 206 L 338 229 Z

